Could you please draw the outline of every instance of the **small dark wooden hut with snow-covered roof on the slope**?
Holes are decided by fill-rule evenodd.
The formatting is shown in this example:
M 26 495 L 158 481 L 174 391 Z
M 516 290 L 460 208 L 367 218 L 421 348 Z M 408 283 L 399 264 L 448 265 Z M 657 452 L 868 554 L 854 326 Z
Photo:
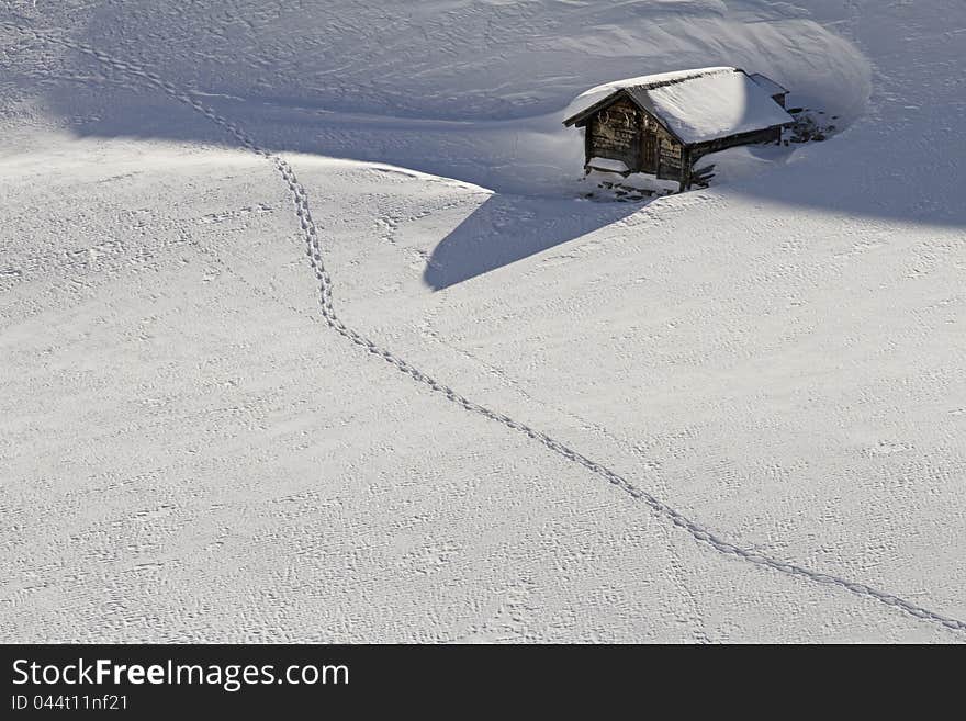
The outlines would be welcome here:
M 717 67 L 619 80 L 583 93 L 563 124 L 586 128 L 588 172 L 643 172 L 685 190 L 701 156 L 779 143 L 782 127 L 794 122 L 775 97 L 784 104 L 787 90 L 755 77 Z

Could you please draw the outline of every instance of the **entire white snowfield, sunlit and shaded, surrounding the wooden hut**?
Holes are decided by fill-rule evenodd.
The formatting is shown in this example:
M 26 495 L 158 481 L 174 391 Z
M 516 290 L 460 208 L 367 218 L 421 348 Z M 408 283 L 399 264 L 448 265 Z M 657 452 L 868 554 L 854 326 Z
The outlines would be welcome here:
M 964 641 L 963 27 L 0 2 L 3 640 Z M 824 142 L 582 196 L 716 66 Z

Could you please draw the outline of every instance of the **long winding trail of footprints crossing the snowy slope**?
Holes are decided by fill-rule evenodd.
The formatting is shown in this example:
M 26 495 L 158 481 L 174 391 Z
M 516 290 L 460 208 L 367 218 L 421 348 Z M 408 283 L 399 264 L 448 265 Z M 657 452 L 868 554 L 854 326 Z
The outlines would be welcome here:
M 305 191 L 305 188 L 299 181 L 295 176 L 292 167 L 281 157 L 259 147 L 255 140 L 251 139 L 242 128 L 237 125 L 228 121 L 227 119 L 218 115 L 212 109 L 204 105 L 200 102 L 194 95 L 190 92 L 186 92 L 180 90 L 171 82 L 164 80 L 158 75 L 139 68 L 135 65 L 131 65 L 128 63 L 124 63 L 122 60 L 117 60 L 100 50 L 97 50 L 93 47 L 75 43 L 72 41 L 63 40 L 59 37 L 47 35 L 46 33 L 41 33 L 30 26 L 18 25 L 8 21 L 0 20 L 0 26 L 7 30 L 13 30 L 15 32 L 21 32 L 26 35 L 31 35 L 38 41 L 48 42 L 57 45 L 61 45 L 64 47 L 68 47 L 70 49 L 77 50 L 85 55 L 91 56 L 96 58 L 98 61 L 108 65 L 116 70 L 125 72 L 135 78 L 141 78 L 147 81 L 150 86 L 158 88 L 164 91 L 171 98 L 187 103 L 199 113 L 203 114 L 205 117 L 211 120 L 216 125 L 221 126 L 225 129 L 229 135 L 232 135 L 236 140 L 238 140 L 244 147 L 248 148 L 252 153 L 262 156 L 263 158 L 270 160 L 278 172 L 281 174 L 282 180 L 285 182 L 289 191 L 292 194 L 292 199 L 295 204 L 295 215 L 299 217 L 299 223 L 302 228 L 302 236 L 306 245 L 306 254 L 310 259 L 310 263 L 312 266 L 313 272 L 315 273 L 315 278 L 319 283 L 319 302 L 322 306 L 322 315 L 325 319 L 326 324 L 340 336 L 351 341 L 352 343 L 366 349 L 373 356 L 378 356 L 385 360 L 391 365 L 395 367 L 400 372 L 405 373 L 414 381 L 422 383 L 423 385 L 428 386 L 433 392 L 439 393 L 446 398 L 470 413 L 474 413 L 476 415 L 483 416 L 491 420 L 494 420 L 506 428 L 509 428 L 514 431 L 525 433 L 532 440 L 541 443 L 547 447 L 549 450 L 553 451 L 558 455 L 576 463 L 591 471 L 595 475 L 600 476 L 606 480 L 611 485 L 620 488 L 622 492 L 628 494 L 634 499 L 642 500 L 645 503 L 654 514 L 658 516 L 662 516 L 670 520 L 674 526 L 681 528 L 690 534 L 695 540 L 704 543 L 706 545 L 711 547 L 719 553 L 724 555 L 731 555 L 742 561 L 746 561 L 749 563 L 753 563 L 755 565 L 765 566 L 767 568 L 772 568 L 779 573 L 795 576 L 798 578 L 802 578 L 806 581 L 811 581 L 817 584 L 822 584 L 827 586 L 838 586 L 843 588 L 856 596 L 862 596 L 866 598 L 872 598 L 877 600 L 886 606 L 891 606 L 898 608 L 900 610 L 906 611 L 907 613 L 914 616 L 916 618 L 923 619 L 925 621 L 930 621 L 933 623 L 937 623 L 947 629 L 952 629 L 954 631 L 966 632 L 966 622 L 961 621 L 958 619 L 950 618 L 946 616 L 942 616 L 936 613 L 935 611 L 931 611 L 921 606 L 917 606 L 911 601 L 908 601 L 903 598 L 895 596 L 892 594 L 878 590 L 863 583 L 849 581 L 846 578 L 841 578 L 839 576 L 834 576 L 831 574 L 821 573 L 818 571 L 812 571 L 810 568 L 806 568 L 805 566 L 800 566 L 794 563 L 788 563 L 785 561 L 780 561 L 777 559 L 773 559 L 770 555 L 765 555 L 763 553 L 756 553 L 754 551 L 750 551 L 748 549 L 740 548 L 730 541 L 727 541 L 722 538 L 719 538 L 714 532 L 704 528 L 696 521 L 687 518 L 683 514 L 681 514 L 677 509 L 669 506 L 664 502 L 660 500 L 658 497 L 648 493 L 643 488 L 640 488 L 632 484 L 630 481 L 625 478 L 622 475 L 616 473 L 609 467 L 597 463 L 588 459 L 587 457 L 579 453 L 577 451 L 571 449 L 566 444 L 555 440 L 554 438 L 543 433 L 526 424 L 514 420 L 509 416 L 505 416 L 501 413 L 492 410 L 485 406 L 482 406 L 478 403 L 474 403 L 467 398 L 463 395 L 460 395 L 456 391 L 453 391 L 448 385 L 440 383 L 436 379 L 426 373 L 422 372 L 419 369 L 409 364 L 407 361 L 403 360 L 394 356 L 391 351 L 380 347 L 366 336 L 360 333 L 353 330 L 346 326 L 345 323 L 338 317 L 335 312 L 335 307 L 333 305 L 333 294 L 332 294 L 332 278 L 328 274 L 328 271 L 325 268 L 323 262 L 322 248 L 318 240 L 318 229 L 315 225 L 315 221 L 312 218 L 312 212 L 308 207 L 308 194 Z

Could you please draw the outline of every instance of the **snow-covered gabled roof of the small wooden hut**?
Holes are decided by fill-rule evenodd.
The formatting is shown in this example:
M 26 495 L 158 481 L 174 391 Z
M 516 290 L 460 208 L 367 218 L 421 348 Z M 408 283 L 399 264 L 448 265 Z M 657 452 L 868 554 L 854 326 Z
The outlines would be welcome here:
M 598 86 L 577 98 L 572 108 L 581 110 L 564 124 L 572 125 L 606 106 L 618 92 L 629 95 L 685 144 L 794 122 L 771 93 L 743 70 L 716 67 L 642 76 Z

